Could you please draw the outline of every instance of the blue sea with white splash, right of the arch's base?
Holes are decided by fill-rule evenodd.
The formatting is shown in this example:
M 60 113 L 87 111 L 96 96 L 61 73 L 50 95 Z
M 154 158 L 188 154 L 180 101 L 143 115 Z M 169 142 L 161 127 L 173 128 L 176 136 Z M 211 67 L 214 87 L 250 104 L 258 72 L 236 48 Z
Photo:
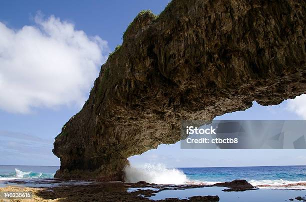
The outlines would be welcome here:
M 213 185 L 237 179 L 246 180 L 262 189 L 292 189 L 291 184 L 294 184 L 294 189 L 306 189 L 306 166 L 166 168 L 148 164 L 143 168 L 125 169 L 125 180 L 130 183 Z

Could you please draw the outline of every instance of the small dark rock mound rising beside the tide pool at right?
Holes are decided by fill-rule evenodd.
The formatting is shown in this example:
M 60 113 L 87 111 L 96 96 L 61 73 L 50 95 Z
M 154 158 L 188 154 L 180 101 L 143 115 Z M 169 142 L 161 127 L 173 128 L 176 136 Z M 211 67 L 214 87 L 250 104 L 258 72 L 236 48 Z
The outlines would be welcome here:
M 223 190 L 224 192 L 243 192 L 247 190 L 256 190 L 251 184 L 246 180 L 234 180 L 225 183 L 216 183 L 212 187 L 227 187 L 230 189 Z

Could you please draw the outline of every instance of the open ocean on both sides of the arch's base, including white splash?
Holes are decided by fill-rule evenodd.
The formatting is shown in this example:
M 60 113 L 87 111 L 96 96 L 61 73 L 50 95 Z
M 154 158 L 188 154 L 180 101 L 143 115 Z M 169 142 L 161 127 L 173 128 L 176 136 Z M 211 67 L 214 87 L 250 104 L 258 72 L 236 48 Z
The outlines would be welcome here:
M 52 179 L 58 169 L 57 166 L 0 166 L 0 185 L 7 181 Z M 306 189 L 306 166 L 166 168 L 146 164 L 125 169 L 125 181 L 130 183 L 212 185 L 236 179 L 244 179 L 261 189 Z

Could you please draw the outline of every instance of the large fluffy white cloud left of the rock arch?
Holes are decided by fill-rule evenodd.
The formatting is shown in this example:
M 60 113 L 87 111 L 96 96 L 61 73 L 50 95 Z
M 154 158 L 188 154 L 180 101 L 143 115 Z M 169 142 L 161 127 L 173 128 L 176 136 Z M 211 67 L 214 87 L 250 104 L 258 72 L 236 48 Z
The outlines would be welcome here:
M 82 105 L 108 55 L 107 42 L 51 15 L 19 30 L 0 22 L 0 109 Z

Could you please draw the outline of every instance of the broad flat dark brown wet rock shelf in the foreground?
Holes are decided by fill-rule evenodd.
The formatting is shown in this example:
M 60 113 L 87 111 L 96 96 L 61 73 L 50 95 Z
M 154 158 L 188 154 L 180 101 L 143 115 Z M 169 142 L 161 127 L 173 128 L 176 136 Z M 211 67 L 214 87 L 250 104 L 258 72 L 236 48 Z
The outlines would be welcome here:
M 202 186 L 198 186 L 202 187 Z M 136 191 L 127 192 L 128 188 Z M 137 189 L 138 188 L 138 189 Z M 146 187 L 147 188 L 147 187 Z M 143 190 L 142 185 L 136 183 L 94 182 L 88 185 L 63 185 L 43 188 L 34 194 L 43 200 L 67 202 L 153 202 L 148 197 L 164 190 L 193 189 L 195 186 L 162 186 L 152 187 L 157 190 Z M 160 189 L 159 189 L 160 188 Z M 35 188 L 33 188 L 35 189 Z M 57 200 L 56 200 L 57 199 Z M 218 196 L 196 196 L 189 199 L 164 199 L 155 202 L 218 202 Z

